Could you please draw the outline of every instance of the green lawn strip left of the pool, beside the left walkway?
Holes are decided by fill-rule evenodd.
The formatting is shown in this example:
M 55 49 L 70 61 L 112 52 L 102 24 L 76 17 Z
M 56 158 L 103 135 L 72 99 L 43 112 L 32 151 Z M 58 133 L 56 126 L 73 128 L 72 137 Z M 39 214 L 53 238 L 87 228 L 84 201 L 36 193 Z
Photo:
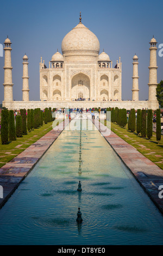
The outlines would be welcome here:
M 61 120 L 58 121 L 61 123 Z M 0 168 L 51 130 L 52 123 L 44 124 L 39 129 L 34 129 L 28 132 L 27 135 L 23 135 L 22 138 L 17 138 L 16 141 L 11 141 L 7 145 L 2 145 L 0 136 Z

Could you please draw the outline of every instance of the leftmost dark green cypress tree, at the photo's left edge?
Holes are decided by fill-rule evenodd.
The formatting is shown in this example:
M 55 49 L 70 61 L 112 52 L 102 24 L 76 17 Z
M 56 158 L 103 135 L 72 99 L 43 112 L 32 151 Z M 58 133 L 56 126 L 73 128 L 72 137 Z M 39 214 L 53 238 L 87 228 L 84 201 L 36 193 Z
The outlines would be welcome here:
M 9 140 L 9 111 L 3 109 L 1 114 L 1 142 L 7 144 Z

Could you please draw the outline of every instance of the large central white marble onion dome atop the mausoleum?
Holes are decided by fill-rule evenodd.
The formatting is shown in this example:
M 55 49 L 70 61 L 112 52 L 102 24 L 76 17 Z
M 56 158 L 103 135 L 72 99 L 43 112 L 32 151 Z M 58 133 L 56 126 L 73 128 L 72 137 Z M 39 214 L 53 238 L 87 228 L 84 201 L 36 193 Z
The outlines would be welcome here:
M 78 54 L 99 54 L 99 41 L 89 28 L 80 22 L 65 35 L 61 45 L 62 54 L 78 52 Z

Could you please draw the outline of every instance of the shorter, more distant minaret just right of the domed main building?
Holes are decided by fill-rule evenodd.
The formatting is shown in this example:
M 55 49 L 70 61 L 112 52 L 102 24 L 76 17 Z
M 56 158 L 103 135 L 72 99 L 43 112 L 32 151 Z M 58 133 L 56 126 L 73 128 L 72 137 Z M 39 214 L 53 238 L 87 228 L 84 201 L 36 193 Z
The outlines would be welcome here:
M 132 92 L 133 92 L 133 97 L 132 97 L 132 100 L 134 101 L 138 101 L 139 100 L 139 76 L 138 76 L 138 58 L 136 56 L 136 53 L 135 53 L 135 56 L 133 58 L 133 89 L 132 89 Z

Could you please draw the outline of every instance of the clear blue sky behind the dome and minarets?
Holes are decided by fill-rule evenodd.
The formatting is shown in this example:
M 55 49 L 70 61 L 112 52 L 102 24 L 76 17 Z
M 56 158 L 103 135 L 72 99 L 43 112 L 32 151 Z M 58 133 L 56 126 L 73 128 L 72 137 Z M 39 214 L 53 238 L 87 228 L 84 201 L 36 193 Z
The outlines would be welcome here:
M 0 44 L 9 35 L 12 42 L 13 97 L 22 100 L 22 57 L 29 58 L 29 98 L 39 100 L 40 57 L 48 66 L 52 55 L 61 52 L 64 36 L 82 22 L 99 39 L 101 52 L 113 64 L 121 56 L 122 99 L 131 99 L 132 58 L 139 57 L 139 98 L 148 99 L 149 41 L 153 35 L 163 44 L 163 1 L 128 0 L 15 0 L 1 1 Z M 158 45 L 159 45 L 158 44 Z M 157 55 L 158 56 L 158 55 Z M 0 103 L 3 100 L 4 57 L 0 57 Z M 158 82 L 163 80 L 163 57 L 158 56 Z

